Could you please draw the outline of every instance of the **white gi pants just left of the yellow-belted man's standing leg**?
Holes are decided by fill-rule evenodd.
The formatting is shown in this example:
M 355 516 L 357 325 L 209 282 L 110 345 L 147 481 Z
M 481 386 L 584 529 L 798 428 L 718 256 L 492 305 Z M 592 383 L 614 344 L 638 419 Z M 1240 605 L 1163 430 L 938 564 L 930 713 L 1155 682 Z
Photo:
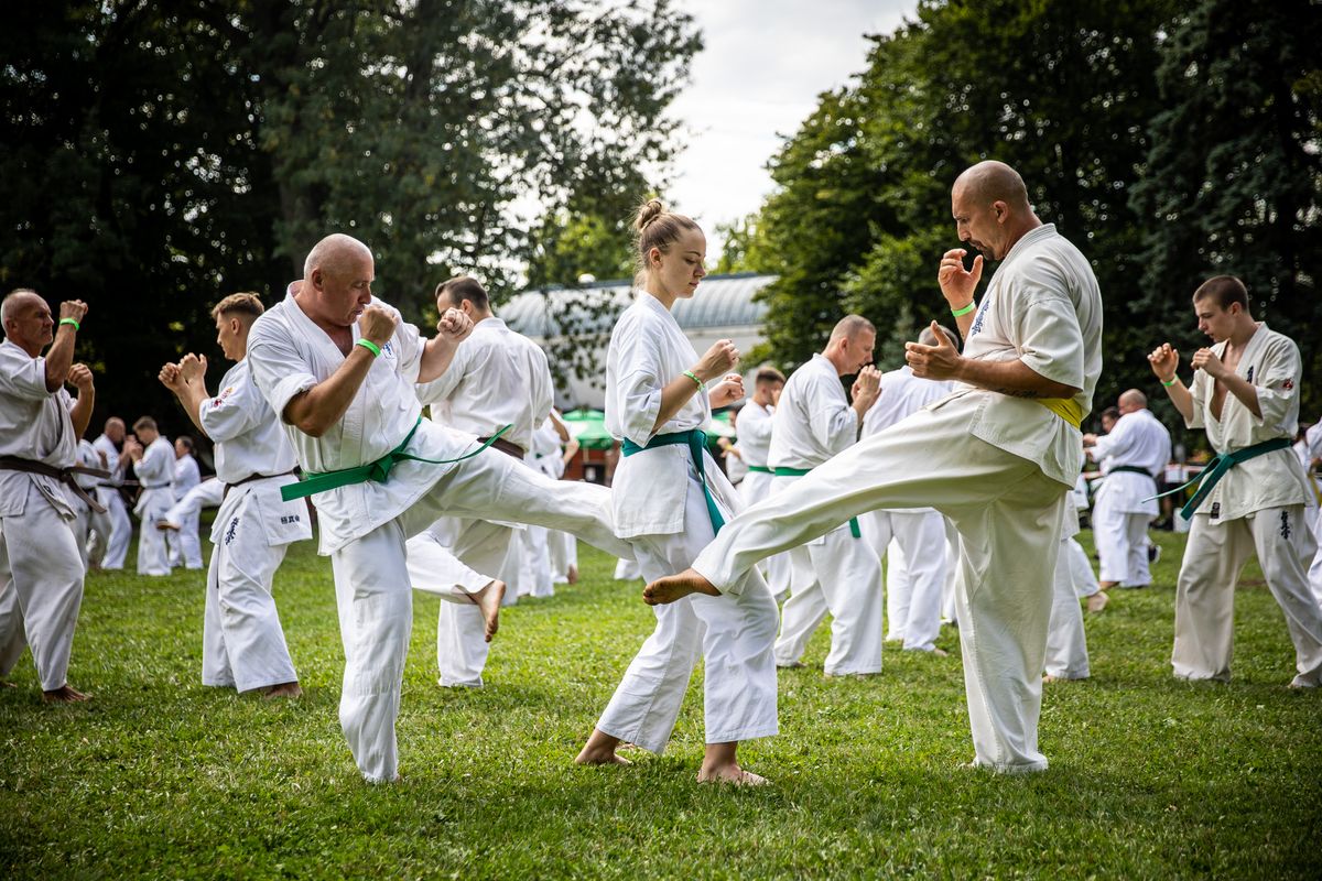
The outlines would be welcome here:
M 873 511 L 858 519 L 876 555 L 887 556 L 886 638 L 911 651 L 932 651 L 951 572 L 945 518 L 936 511 Z

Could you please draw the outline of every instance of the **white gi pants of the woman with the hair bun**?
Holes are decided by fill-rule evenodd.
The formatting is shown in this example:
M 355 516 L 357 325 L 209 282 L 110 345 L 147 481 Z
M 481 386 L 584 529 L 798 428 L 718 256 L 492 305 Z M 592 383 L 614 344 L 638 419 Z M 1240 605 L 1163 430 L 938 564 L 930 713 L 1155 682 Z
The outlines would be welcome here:
M 690 466 L 691 468 L 691 466 Z M 728 511 L 723 511 L 726 516 Z M 633 539 L 648 581 L 683 572 L 711 540 L 702 485 L 690 470 L 683 532 Z M 662 753 L 670 741 L 689 679 L 703 659 L 703 724 L 707 744 L 771 737 L 776 716 L 776 601 L 758 569 L 742 576 L 739 593 L 690 594 L 653 606 L 657 626 L 624 672 L 596 728 Z

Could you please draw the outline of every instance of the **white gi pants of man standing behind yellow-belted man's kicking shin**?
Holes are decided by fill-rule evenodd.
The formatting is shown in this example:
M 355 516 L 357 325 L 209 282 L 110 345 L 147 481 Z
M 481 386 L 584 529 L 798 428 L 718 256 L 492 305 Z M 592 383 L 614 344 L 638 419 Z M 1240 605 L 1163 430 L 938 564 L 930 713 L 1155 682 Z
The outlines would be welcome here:
M 802 477 L 777 477 L 768 498 L 775 498 Z M 862 531 L 862 528 L 859 528 Z M 829 612 L 830 651 L 824 671 L 829 676 L 875 674 L 882 670 L 882 563 L 866 538 L 855 539 L 849 526 L 789 551 L 793 577 L 781 609 L 776 664 L 798 663 L 808 639 Z

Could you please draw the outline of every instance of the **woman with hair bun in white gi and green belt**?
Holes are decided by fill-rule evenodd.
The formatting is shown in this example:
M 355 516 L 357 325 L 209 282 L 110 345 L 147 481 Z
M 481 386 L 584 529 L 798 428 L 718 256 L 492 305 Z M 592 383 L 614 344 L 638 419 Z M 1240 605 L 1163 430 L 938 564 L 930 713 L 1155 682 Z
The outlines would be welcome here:
M 702 427 L 711 407 L 743 398 L 743 379 L 728 372 L 739 358 L 731 341 L 698 358 L 670 314 L 706 275 L 702 230 L 657 199 L 640 209 L 635 229 L 641 284 L 611 332 L 605 427 L 624 445 L 615 470 L 616 531 L 635 543 L 644 577 L 657 579 L 687 567 L 739 509 Z M 776 601 L 761 573 L 750 569 L 719 596 L 658 608 L 656 618 L 578 762 L 627 765 L 615 753 L 624 741 L 665 750 L 701 655 L 707 745 L 698 781 L 765 783 L 738 762 L 740 741 L 777 732 Z

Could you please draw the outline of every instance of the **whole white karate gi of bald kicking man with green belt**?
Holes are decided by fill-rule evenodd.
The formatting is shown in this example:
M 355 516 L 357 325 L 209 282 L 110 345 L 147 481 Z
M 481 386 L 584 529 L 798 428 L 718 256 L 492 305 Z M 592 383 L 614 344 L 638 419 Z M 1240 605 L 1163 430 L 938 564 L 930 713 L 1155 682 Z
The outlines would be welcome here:
M 284 424 L 304 470 L 354 468 L 399 446 L 428 460 L 476 450 L 471 435 L 420 419 L 414 382 L 422 354 L 418 329 L 399 321 L 340 421 L 321 437 Z M 292 293 L 253 324 L 247 363 L 276 413 L 299 392 L 329 379 L 344 361 Z M 334 573 L 344 641 L 340 724 L 369 781 L 394 779 L 398 769 L 395 716 L 412 626 L 405 551 L 410 536 L 443 515 L 493 518 L 568 528 L 608 553 L 633 555 L 627 542 L 615 538 L 608 490 L 549 481 L 490 449 L 460 462 L 403 460 L 383 482 L 317 493 L 313 502 L 320 552 L 330 556 Z

